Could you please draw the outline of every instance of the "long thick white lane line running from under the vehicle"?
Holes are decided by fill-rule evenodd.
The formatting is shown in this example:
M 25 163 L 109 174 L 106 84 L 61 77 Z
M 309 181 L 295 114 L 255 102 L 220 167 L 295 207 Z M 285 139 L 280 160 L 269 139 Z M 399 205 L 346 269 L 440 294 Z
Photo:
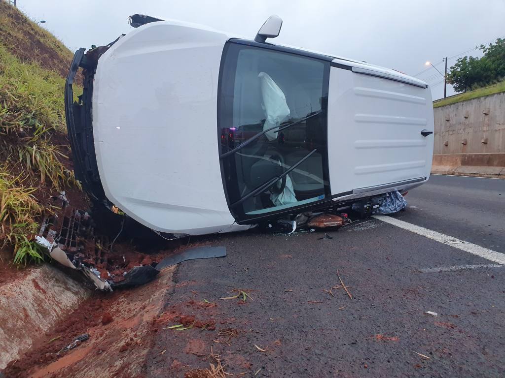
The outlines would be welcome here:
M 473 255 L 480 256 L 494 263 L 505 265 L 505 254 L 496 252 L 492 249 L 487 249 L 481 247 L 480 245 L 472 244 L 465 240 L 459 240 L 454 238 L 453 236 L 444 235 L 440 232 L 436 232 L 421 226 L 416 226 L 415 224 L 404 222 L 402 220 L 388 217 L 385 215 L 372 215 L 372 217 L 375 219 L 379 219 L 383 222 L 392 224 L 393 226 L 400 227 L 408 231 L 414 232 L 416 234 L 426 236 L 430 239 L 439 241 L 442 244 L 450 245 L 452 247 L 464 250 Z

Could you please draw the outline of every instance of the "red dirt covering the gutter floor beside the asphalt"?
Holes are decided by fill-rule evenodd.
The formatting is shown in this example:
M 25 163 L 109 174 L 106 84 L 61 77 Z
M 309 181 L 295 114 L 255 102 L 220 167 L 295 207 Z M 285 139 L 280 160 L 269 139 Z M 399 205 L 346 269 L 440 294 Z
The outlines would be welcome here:
M 162 326 L 159 311 L 173 286 L 173 271 L 165 269 L 155 281 L 130 290 L 95 292 L 24 356 L 10 362 L 5 376 L 67 378 L 79 376 L 83 365 L 86 376 L 139 376 L 150 335 Z M 89 334 L 87 341 L 57 354 L 84 333 Z

